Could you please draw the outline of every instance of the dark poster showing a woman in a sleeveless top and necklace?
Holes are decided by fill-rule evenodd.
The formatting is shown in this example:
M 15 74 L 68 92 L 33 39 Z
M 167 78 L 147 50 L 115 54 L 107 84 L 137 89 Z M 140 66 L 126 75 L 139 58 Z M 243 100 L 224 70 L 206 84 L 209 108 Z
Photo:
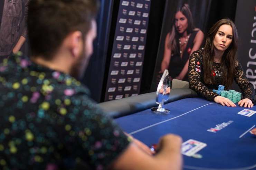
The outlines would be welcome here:
M 188 81 L 189 56 L 203 46 L 209 6 L 202 0 L 167 1 L 152 88 L 165 69 L 171 79 Z

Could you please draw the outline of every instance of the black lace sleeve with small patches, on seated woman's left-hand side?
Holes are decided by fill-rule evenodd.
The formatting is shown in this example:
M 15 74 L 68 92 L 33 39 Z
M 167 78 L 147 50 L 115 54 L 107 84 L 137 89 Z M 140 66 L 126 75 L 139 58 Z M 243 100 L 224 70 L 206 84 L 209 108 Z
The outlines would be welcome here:
M 189 88 L 196 91 L 200 96 L 207 100 L 213 100 L 217 93 L 212 92 L 201 82 L 201 72 L 203 66 L 203 57 L 200 50 L 195 51 L 189 58 L 188 81 Z

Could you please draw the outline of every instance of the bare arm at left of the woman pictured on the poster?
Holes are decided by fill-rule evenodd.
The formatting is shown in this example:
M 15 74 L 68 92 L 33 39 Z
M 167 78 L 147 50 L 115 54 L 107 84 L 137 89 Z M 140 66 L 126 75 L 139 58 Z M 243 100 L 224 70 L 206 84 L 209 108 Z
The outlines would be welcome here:
M 166 35 L 165 38 L 165 43 L 164 43 L 164 54 L 163 54 L 163 60 L 161 63 L 161 71 L 160 73 L 163 73 L 165 69 L 168 69 L 169 64 L 170 64 L 170 60 L 171 60 L 171 49 L 169 49 L 168 47 L 168 43 L 169 43 L 169 37 L 170 37 L 170 33 L 168 33 Z

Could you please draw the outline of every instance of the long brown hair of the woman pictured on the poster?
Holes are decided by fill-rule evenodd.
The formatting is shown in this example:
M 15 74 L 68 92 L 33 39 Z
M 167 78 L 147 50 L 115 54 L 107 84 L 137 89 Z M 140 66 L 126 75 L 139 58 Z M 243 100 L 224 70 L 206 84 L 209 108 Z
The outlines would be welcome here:
M 189 5 L 187 3 L 184 3 L 182 6 L 177 8 L 177 11 L 175 12 L 175 14 L 177 12 L 181 12 L 188 20 L 188 28 L 187 28 L 187 33 L 190 34 L 191 32 L 193 32 L 193 30 L 195 29 L 194 26 L 194 22 L 193 22 L 193 16 L 192 13 L 189 9 Z M 178 50 L 178 46 L 177 46 L 177 39 L 179 36 L 179 33 L 175 27 L 175 18 L 173 19 L 172 22 L 172 29 L 170 31 L 170 36 L 169 36 L 169 41 L 168 41 L 168 48 L 171 49 L 171 51 L 173 53 L 177 53 L 179 54 L 179 50 Z

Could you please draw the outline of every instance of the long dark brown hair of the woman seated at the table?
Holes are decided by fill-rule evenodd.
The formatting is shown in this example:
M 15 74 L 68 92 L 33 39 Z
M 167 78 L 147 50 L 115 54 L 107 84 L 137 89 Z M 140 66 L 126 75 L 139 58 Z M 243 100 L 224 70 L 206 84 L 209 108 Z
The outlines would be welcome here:
M 236 26 L 233 21 L 229 19 L 222 19 L 216 22 L 212 28 L 210 29 L 206 42 L 205 47 L 203 49 L 203 78 L 206 84 L 214 84 L 214 77 L 212 75 L 212 67 L 214 66 L 214 38 L 217 34 L 221 25 L 230 25 L 233 30 L 233 38 L 232 42 L 229 47 L 225 50 L 222 59 L 221 59 L 221 68 L 223 70 L 223 81 L 222 85 L 225 85 L 226 88 L 230 88 L 235 73 L 235 62 L 237 60 L 237 46 L 238 46 L 238 33 Z

